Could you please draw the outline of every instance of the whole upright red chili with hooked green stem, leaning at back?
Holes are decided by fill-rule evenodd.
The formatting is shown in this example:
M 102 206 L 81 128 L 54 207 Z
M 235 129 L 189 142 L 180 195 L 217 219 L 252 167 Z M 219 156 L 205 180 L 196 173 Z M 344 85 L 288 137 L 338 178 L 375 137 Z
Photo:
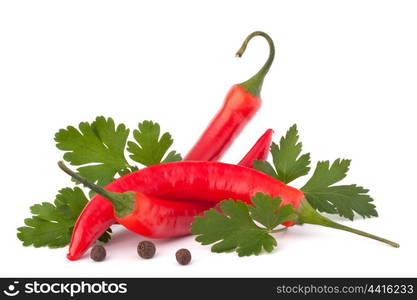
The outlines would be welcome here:
M 262 83 L 275 56 L 273 41 L 264 32 L 253 32 L 243 42 L 236 56 L 242 56 L 249 41 L 255 36 L 262 36 L 268 41 L 270 51 L 268 60 L 253 77 L 230 89 L 222 108 L 184 160 L 219 160 L 261 106 Z

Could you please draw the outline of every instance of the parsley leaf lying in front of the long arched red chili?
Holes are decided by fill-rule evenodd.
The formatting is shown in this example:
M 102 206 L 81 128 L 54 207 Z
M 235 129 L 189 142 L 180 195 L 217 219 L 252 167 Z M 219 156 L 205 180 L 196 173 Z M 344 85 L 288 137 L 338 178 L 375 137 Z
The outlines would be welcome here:
M 281 204 L 279 197 L 257 193 L 251 198 L 254 206 L 232 199 L 220 202 L 222 213 L 216 209 L 204 212 L 192 224 L 191 232 L 203 245 L 215 243 L 212 252 L 235 250 L 239 256 L 258 255 L 262 249 L 271 252 L 277 242 L 270 233 L 296 215 L 291 205 Z M 264 227 L 258 226 L 256 223 Z

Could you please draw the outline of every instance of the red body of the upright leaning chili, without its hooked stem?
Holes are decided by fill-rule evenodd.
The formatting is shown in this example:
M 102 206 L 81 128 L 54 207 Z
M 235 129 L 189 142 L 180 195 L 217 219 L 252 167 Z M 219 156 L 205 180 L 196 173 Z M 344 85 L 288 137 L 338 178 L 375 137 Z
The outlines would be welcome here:
M 184 160 L 217 161 L 261 106 L 261 99 L 234 85 L 222 108 Z

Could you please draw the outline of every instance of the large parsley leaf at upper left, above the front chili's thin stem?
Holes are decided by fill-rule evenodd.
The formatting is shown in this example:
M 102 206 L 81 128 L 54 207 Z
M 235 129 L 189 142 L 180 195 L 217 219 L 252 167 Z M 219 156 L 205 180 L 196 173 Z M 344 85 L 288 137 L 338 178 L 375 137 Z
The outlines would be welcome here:
M 72 165 L 81 166 L 78 173 L 105 186 L 115 175 L 129 168 L 124 156 L 129 129 L 112 118 L 97 117 L 89 124 L 82 122 L 78 129 L 68 126 L 55 134 L 57 148 L 66 151 L 64 159 Z

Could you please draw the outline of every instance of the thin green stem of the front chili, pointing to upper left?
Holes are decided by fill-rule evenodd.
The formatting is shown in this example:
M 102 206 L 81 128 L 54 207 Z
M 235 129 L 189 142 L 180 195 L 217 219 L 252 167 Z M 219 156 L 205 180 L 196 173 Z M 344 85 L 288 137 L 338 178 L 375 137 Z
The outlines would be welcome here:
M 135 209 L 135 193 L 134 192 L 125 192 L 125 193 L 113 193 L 106 191 L 102 187 L 94 184 L 93 182 L 87 180 L 86 178 L 80 176 L 79 174 L 72 171 L 68 168 L 63 161 L 58 162 L 58 166 L 62 171 L 70 175 L 72 178 L 81 182 L 85 187 L 96 192 L 100 196 L 106 198 L 113 205 L 115 214 L 118 218 L 123 218 L 128 214 L 132 213 Z

